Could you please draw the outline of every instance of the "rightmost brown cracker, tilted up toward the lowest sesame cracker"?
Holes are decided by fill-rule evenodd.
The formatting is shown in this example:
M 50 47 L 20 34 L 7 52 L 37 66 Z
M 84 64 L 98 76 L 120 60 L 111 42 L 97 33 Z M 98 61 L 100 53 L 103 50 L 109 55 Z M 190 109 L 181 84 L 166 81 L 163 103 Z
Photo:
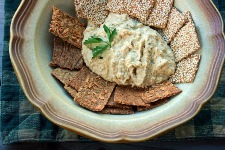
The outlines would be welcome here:
M 145 103 L 152 103 L 160 99 L 177 95 L 181 92 L 182 91 L 178 87 L 173 85 L 171 82 L 166 81 L 150 87 L 142 94 L 142 99 Z

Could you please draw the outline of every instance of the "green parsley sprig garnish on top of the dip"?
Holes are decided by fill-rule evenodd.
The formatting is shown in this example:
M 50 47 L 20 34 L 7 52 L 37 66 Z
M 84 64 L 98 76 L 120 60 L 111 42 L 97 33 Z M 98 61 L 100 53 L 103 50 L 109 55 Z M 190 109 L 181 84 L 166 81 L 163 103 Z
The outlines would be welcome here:
M 92 49 L 92 59 L 101 54 L 103 51 L 105 51 L 107 48 L 111 47 L 111 43 L 114 39 L 114 37 L 117 34 L 117 30 L 114 29 L 113 31 L 110 31 L 109 27 L 106 25 L 103 25 L 104 31 L 107 34 L 108 41 L 104 41 L 99 37 L 94 37 L 91 36 L 87 40 L 84 41 L 84 45 L 89 45 L 89 44 L 99 44 L 95 48 Z

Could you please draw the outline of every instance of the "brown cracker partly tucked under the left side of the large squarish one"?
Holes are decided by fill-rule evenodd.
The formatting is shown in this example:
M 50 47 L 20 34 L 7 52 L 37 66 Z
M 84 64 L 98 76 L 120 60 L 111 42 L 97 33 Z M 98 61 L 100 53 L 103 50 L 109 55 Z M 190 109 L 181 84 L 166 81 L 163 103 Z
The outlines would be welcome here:
M 86 66 L 83 66 L 81 70 L 79 70 L 77 74 L 73 76 L 73 78 L 70 78 L 67 84 L 78 91 L 90 73 L 90 69 L 88 69 Z

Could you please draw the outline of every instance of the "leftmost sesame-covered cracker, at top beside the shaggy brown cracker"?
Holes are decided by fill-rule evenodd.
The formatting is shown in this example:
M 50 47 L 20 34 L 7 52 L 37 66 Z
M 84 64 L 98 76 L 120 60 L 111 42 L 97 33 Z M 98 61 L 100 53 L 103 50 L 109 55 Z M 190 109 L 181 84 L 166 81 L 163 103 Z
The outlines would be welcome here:
M 77 3 L 77 2 L 76 2 Z M 105 22 L 105 18 L 108 16 L 108 10 L 106 10 L 107 0 L 79 0 L 78 13 L 81 12 L 80 17 L 91 20 L 95 25 L 100 26 Z

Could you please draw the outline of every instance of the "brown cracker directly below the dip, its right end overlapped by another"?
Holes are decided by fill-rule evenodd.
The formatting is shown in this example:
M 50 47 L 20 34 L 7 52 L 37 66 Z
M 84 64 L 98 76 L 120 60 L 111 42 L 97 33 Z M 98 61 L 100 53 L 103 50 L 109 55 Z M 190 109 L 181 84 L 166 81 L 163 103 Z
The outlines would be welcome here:
M 114 94 L 114 101 L 120 104 L 132 106 L 148 106 L 142 99 L 146 89 L 130 86 L 117 86 Z

